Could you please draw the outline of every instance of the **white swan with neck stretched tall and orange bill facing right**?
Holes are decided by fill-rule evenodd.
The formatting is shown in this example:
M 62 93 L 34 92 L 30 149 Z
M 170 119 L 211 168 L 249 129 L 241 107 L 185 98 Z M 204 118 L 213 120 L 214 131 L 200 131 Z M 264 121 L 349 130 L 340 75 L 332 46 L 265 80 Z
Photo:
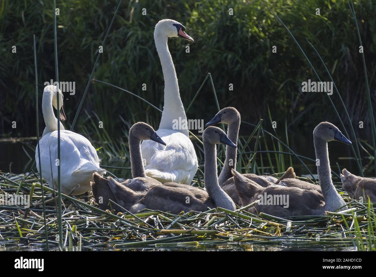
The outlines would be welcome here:
M 164 107 L 161 123 L 156 133 L 167 144 L 147 140 L 141 144 L 145 161 L 146 175 L 162 184 L 176 182 L 190 185 L 196 174 L 198 161 L 188 129 L 174 128 L 174 121 L 186 121 L 185 110 L 179 94 L 179 85 L 168 51 L 167 39 L 181 37 L 193 41 L 185 32 L 185 27 L 177 21 L 164 19 L 155 26 L 154 41 L 161 60 L 165 81 Z

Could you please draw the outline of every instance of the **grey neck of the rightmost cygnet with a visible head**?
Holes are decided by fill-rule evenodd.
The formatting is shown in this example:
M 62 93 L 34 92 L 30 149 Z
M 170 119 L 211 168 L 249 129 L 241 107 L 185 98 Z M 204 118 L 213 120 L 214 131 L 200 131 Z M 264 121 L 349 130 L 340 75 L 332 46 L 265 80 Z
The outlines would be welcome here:
M 327 142 L 315 135 L 313 136 L 313 141 L 315 145 L 316 159 L 320 161 L 320 165 L 317 165 L 317 175 L 325 199 L 325 210 L 335 211 L 345 205 L 345 202 L 337 193 L 332 182 Z

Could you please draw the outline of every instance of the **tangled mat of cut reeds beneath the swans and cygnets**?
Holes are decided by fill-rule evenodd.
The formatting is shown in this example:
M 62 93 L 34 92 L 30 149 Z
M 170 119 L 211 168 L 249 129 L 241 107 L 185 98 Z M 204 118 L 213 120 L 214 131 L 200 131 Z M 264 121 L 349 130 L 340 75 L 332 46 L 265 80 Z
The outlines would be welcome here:
M 47 237 L 50 245 L 58 245 L 57 191 L 45 186 L 44 201 L 39 178 L 35 174 L 0 173 L 0 194 L 30 197 L 30 207 L 0 205 L 0 244 L 46 243 L 43 202 Z M 43 181 L 45 182 L 45 181 Z M 0 198 L 2 199 L 2 198 Z M 9 203 L 8 203 L 9 204 Z M 321 245 L 354 245 L 360 250 L 375 246 L 376 217 L 373 205 L 355 200 L 345 211 L 328 212 L 323 216 L 297 216 L 289 219 L 245 211 L 250 205 L 229 211 L 224 208 L 205 212 L 182 211 L 168 214 L 143 210 L 132 214 L 97 208 L 94 198 L 62 194 L 63 247 L 79 249 L 92 247 L 138 248 L 197 247 L 221 243 L 300 243 Z M 375 204 L 376 205 L 376 204 Z

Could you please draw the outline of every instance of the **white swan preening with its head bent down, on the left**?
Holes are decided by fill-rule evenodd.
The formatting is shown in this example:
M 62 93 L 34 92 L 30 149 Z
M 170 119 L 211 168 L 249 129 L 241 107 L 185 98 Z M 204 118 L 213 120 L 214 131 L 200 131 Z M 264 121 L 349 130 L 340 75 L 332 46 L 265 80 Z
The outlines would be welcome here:
M 53 107 L 57 109 L 57 88 L 46 86 L 43 91 L 42 111 L 45 129 L 39 141 L 41 155 L 42 177 L 50 188 L 58 189 L 58 119 Z M 52 107 L 53 106 L 53 107 Z M 59 90 L 59 113 L 62 121 L 65 120 L 63 110 L 63 95 Z M 61 122 L 60 122 L 61 124 Z M 36 168 L 39 171 L 38 146 L 35 149 Z M 99 158 L 95 148 L 85 137 L 64 130 L 60 125 L 60 184 L 64 194 L 80 195 L 89 191 L 93 173 L 103 175 L 105 170 L 99 167 Z

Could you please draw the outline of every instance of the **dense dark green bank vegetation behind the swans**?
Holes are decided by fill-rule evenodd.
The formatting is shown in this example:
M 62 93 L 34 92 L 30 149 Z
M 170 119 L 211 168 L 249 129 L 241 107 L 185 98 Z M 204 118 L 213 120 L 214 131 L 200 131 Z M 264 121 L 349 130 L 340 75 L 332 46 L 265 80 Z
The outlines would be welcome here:
M 76 95 L 65 94 L 67 122 L 71 124 L 88 77 L 102 44 L 118 1 L 58 1 L 59 78 L 75 81 Z M 323 93 L 302 93 L 301 83 L 316 80 L 287 30 L 264 6 L 264 1 L 215 0 L 196 2 L 123 1 L 107 38 L 95 78 L 128 89 L 157 107 L 163 105 L 163 76 L 153 40 L 155 24 L 174 18 L 185 25 L 195 39 L 190 53 L 185 41 L 170 39 L 169 47 L 179 78 L 183 103 L 188 105 L 208 72 L 212 73 L 221 107 L 235 106 L 242 119 L 256 123 L 268 118 L 282 126 L 338 122 L 330 112 Z M 359 54 L 355 24 L 346 0 L 276 1 L 269 4 L 293 32 L 322 80 L 329 81 L 314 44 L 331 71 L 353 123 L 364 120 L 367 126 L 364 71 Z M 376 52 L 375 5 L 370 1 L 354 3 L 368 77 L 374 78 Z M 142 9 L 147 15 L 142 15 Z M 233 15 L 229 15 L 233 8 Z M 320 8 L 321 15 L 315 15 Z M 37 39 L 38 83 L 40 96 L 45 81 L 55 79 L 53 57 L 53 14 L 51 1 L 0 1 L 0 133 L 5 136 L 35 136 L 35 93 L 33 38 Z M 12 46 L 17 53 L 12 53 Z M 277 53 L 271 47 L 277 46 Z M 147 90 L 142 90 L 142 84 Z M 229 84 L 234 86 L 229 91 Z M 371 91 L 374 97 L 374 82 Z M 339 112 L 343 110 L 332 96 Z M 39 104 L 41 99 L 39 99 Z M 246 105 L 244 103 L 247 103 Z M 89 88 L 83 108 L 106 122 L 112 137 L 126 121 L 158 122 L 160 114 L 143 101 L 105 84 Z M 145 112 L 145 110 L 147 112 Z M 193 104 L 188 117 L 209 119 L 216 112 L 209 83 Z M 76 130 L 87 117 L 81 111 Z M 17 129 L 11 122 L 19 122 Z M 41 130 L 43 122 L 40 122 Z M 265 127 L 265 125 L 264 125 Z M 268 127 L 268 126 L 266 126 Z M 358 133 L 358 128 L 355 128 Z M 365 128 L 362 132 L 369 132 Z M 364 134 L 360 134 L 364 135 Z

